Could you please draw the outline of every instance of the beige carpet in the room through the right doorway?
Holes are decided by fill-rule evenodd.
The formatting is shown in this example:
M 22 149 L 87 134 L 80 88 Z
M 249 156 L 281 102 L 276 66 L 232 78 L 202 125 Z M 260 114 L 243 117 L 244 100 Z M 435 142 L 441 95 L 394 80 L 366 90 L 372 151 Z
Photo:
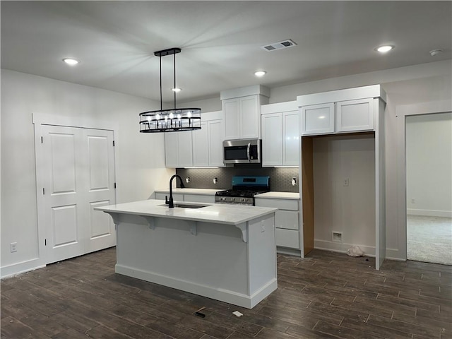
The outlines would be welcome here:
M 408 215 L 407 258 L 452 265 L 452 218 Z

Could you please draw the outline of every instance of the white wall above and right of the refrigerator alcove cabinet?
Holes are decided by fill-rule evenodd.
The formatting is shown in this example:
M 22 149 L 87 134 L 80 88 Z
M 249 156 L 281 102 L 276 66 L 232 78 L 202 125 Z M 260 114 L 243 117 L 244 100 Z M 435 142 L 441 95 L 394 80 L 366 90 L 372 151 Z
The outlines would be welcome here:
M 452 111 L 451 60 L 271 88 L 270 103 L 296 100 L 297 95 L 374 84 L 383 85 L 387 94 L 386 256 L 405 259 L 405 129 L 400 126 L 405 127 L 405 115 Z

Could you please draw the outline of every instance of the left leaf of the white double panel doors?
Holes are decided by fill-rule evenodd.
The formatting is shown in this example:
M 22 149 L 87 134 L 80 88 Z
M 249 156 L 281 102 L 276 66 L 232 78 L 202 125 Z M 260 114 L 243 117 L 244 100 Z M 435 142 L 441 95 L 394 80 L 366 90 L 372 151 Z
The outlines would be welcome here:
M 42 126 L 44 148 L 44 215 L 47 263 L 84 253 L 87 215 L 84 192 L 80 131 L 71 127 Z

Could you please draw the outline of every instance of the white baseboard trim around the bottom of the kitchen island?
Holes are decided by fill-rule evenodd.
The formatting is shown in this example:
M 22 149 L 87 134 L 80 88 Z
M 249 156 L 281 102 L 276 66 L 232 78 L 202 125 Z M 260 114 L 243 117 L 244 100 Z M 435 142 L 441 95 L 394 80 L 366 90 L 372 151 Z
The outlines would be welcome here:
M 115 266 L 115 272 L 132 278 L 149 281 L 150 283 L 156 283 L 158 285 L 164 285 L 177 290 L 194 293 L 195 295 L 202 295 L 203 297 L 220 300 L 221 302 L 227 302 L 239 307 L 245 307 L 247 309 L 252 309 L 264 298 L 270 295 L 271 292 L 278 288 L 278 280 L 273 278 L 253 295 L 244 295 L 230 290 L 200 285 L 186 280 L 172 278 L 166 275 L 160 275 L 158 273 L 140 270 L 129 266 L 122 266 L 119 264 Z

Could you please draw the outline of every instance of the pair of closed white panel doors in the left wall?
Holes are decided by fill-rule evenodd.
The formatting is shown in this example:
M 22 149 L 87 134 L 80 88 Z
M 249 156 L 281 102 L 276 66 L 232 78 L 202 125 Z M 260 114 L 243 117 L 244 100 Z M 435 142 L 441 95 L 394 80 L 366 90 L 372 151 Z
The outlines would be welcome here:
M 115 203 L 113 131 L 42 125 L 46 263 L 116 244 L 111 218 L 95 206 Z

